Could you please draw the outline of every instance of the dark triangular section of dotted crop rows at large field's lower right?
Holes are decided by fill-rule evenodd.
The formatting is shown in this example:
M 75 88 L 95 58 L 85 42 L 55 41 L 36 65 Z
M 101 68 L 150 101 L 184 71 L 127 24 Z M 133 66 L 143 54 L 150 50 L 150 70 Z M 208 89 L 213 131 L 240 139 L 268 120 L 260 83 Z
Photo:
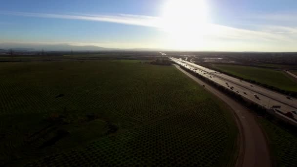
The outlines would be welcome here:
M 27 166 L 201 166 L 218 163 L 229 127 L 217 105 L 181 112 Z

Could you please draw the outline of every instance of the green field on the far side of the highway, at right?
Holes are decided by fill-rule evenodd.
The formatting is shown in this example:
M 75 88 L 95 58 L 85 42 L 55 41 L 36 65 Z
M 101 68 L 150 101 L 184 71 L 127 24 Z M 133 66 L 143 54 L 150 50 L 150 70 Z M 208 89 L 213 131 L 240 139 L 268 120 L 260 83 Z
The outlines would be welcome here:
M 233 74 L 244 79 L 254 80 L 277 88 L 297 92 L 297 83 L 288 78 L 283 71 L 241 65 L 215 64 L 223 72 Z

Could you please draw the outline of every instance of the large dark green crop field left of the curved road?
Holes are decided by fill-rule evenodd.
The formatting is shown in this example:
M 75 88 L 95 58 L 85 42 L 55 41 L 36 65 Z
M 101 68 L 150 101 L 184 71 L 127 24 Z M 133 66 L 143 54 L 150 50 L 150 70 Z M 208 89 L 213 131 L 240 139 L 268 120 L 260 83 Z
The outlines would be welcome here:
M 174 66 L 0 64 L 0 166 L 230 166 L 231 111 Z

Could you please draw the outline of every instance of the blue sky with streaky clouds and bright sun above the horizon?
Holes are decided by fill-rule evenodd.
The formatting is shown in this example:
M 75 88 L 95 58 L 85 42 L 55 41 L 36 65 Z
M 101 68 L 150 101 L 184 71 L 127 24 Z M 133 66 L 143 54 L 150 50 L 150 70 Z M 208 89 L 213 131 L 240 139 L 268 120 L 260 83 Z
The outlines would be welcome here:
M 1 43 L 297 51 L 297 0 L 2 0 Z

